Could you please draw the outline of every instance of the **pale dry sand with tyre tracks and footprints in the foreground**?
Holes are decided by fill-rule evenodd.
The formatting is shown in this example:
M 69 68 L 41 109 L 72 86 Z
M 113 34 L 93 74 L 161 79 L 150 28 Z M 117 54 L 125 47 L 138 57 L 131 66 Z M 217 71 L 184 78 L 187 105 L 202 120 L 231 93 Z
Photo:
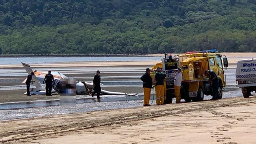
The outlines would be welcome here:
M 256 97 L 2 121 L 0 142 L 255 144 Z

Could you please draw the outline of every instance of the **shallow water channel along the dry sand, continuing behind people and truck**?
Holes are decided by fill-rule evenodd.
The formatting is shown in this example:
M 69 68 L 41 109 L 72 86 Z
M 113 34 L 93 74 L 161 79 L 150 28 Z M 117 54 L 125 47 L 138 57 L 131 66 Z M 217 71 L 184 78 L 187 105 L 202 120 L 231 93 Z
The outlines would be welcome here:
M 235 87 L 226 88 L 226 91 L 223 92 L 223 98 L 238 96 L 241 96 L 241 90 L 236 89 Z M 70 106 L 59 105 L 59 100 L 2 103 L 0 104 L 0 120 L 50 116 L 56 114 L 82 113 L 107 109 L 141 107 L 143 105 L 142 93 L 139 93 L 139 96 L 103 96 L 103 98 L 99 101 L 95 98 L 90 98 L 90 96 L 85 97 L 86 98 L 78 99 L 78 104 Z M 204 100 L 209 100 L 210 98 L 211 96 L 204 96 Z M 152 99 L 153 94 L 151 95 L 150 103 L 152 102 Z M 175 99 L 173 99 L 173 103 L 174 102 Z M 184 102 L 184 100 L 182 100 L 182 102 Z M 152 104 L 156 104 L 155 94 Z

